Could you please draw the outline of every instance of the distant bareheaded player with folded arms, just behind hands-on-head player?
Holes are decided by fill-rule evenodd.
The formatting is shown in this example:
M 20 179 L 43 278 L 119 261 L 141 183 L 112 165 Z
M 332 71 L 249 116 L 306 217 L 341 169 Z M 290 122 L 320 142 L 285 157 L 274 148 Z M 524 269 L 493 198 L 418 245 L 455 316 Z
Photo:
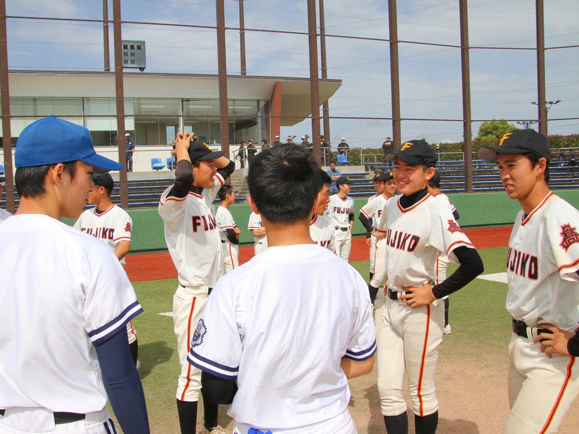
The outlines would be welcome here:
M 221 248 L 223 249 L 223 264 L 225 273 L 239 267 L 239 234 L 241 230 L 235 224 L 229 207 L 235 203 L 235 192 L 229 184 L 223 186 L 217 192 L 221 204 L 215 212 L 217 229 L 221 236 Z

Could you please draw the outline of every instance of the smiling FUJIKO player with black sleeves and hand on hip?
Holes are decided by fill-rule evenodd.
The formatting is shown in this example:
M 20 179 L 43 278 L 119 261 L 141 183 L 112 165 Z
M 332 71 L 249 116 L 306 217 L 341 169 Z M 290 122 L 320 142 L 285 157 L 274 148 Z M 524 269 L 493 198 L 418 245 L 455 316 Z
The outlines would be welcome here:
M 394 160 L 394 180 L 402 196 L 386 202 L 378 230 L 386 234 L 387 295 L 378 338 L 378 392 L 388 434 L 407 434 L 402 396 L 404 372 L 412 398 L 417 434 L 438 425 L 434 377 L 444 329 L 444 302 L 483 271 L 478 252 L 450 211 L 428 194 L 436 152 L 424 140 L 402 144 L 386 155 Z M 439 253 L 460 264 L 444 282 L 437 280 Z

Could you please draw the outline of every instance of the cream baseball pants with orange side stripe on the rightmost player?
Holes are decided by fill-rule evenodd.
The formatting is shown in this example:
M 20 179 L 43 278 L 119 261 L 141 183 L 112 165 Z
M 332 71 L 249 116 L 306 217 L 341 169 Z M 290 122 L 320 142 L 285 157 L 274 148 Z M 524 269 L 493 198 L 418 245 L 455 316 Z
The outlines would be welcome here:
M 554 354 L 513 333 L 509 344 L 508 398 L 504 434 L 555 433 L 579 392 L 576 358 Z

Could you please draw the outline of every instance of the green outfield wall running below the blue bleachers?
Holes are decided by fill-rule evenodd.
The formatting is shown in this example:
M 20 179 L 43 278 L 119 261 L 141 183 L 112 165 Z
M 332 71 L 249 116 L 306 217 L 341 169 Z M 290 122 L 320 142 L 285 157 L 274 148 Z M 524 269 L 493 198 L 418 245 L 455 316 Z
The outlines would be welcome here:
M 579 209 L 579 190 L 556 190 L 555 194 L 565 199 L 575 208 Z M 450 200 L 459 211 L 459 224 L 468 229 L 470 227 L 485 226 L 508 226 L 515 221 L 516 214 L 521 207 L 516 200 L 508 198 L 507 193 L 458 193 L 449 194 Z M 356 206 L 356 222 L 354 223 L 354 236 L 365 233 L 364 226 L 358 220 L 360 208 L 368 202 L 367 198 L 354 199 Z M 247 222 L 250 218 L 251 209 L 247 204 L 231 205 L 229 208 L 237 226 L 241 229 L 240 245 L 251 245 L 253 234 L 247 230 Z M 129 215 L 133 219 L 133 233 L 131 251 L 150 252 L 166 250 L 163 220 L 161 220 L 156 208 L 129 209 Z M 74 220 L 63 219 L 67 225 L 74 225 Z

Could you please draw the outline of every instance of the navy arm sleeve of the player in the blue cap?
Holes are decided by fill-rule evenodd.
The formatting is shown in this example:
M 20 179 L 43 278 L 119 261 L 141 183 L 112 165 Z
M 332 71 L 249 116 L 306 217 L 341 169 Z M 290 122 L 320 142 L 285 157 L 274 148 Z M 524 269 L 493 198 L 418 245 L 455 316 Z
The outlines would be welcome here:
M 126 434 L 150 433 L 145 394 L 129 350 L 127 330 L 94 347 L 112 410 Z

